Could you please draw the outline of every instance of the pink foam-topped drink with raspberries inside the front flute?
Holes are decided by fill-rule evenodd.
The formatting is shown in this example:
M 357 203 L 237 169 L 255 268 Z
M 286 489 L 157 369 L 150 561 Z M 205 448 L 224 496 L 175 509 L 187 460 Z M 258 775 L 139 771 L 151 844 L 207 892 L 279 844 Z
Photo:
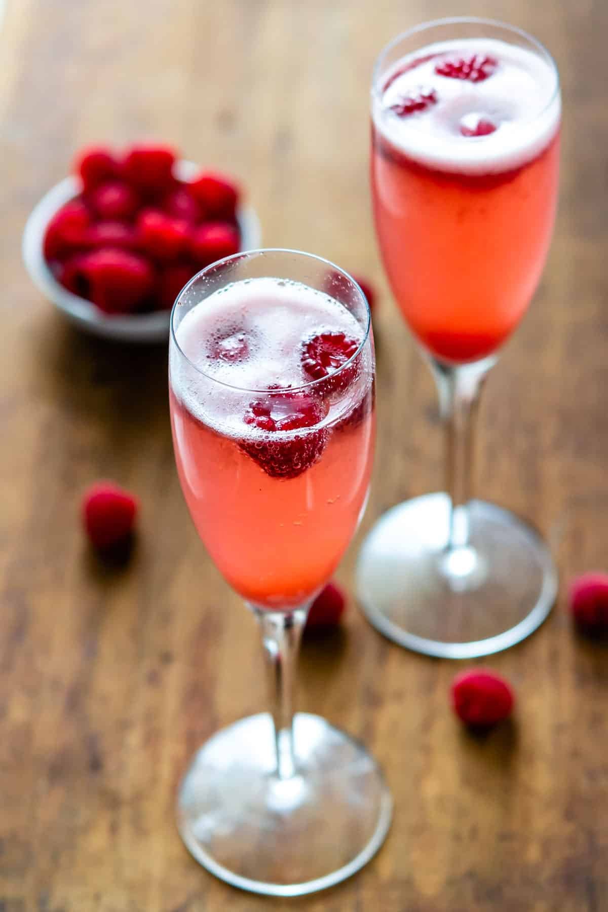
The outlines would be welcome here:
M 314 596 L 355 532 L 375 434 L 365 333 L 334 297 L 273 278 L 225 286 L 177 328 L 181 486 L 213 561 L 255 606 Z

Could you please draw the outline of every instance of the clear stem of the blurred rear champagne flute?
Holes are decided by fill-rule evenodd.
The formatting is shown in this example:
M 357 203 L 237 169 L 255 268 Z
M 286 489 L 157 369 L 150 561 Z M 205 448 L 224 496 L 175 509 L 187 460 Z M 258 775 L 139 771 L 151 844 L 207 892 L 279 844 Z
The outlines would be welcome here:
M 446 437 L 446 489 L 450 500 L 447 551 L 469 544 L 474 430 L 479 394 L 494 358 L 474 364 L 447 365 L 431 360 L 439 394 L 439 414 Z

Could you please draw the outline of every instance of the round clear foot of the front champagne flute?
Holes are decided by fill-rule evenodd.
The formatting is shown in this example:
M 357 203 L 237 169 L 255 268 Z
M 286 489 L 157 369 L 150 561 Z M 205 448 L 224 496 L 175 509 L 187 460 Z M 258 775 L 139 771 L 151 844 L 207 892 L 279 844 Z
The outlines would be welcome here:
M 180 785 L 178 826 L 191 854 L 232 886 L 302 896 L 366 865 L 392 799 L 357 741 L 308 713 L 294 718 L 297 773 L 274 775 L 273 723 L 261 713 L 201 747 Z

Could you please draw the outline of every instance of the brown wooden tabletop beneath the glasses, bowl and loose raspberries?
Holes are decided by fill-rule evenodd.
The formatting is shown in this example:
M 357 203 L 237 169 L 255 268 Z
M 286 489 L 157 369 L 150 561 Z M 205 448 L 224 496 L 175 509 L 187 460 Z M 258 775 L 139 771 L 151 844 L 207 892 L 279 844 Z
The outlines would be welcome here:
M 165 351 L 68 328 L 20 262 L 26 215 L 88 140 L 170 138 L 238 174 L 268 245 L 373 278 L 379 446 L 362 533 L 435 489 L 435 394 L 386 290 L 367 192 L 376 51 L 456 0 L 8 0 L 0 33 L 0 910 L 600 912 L 608 908 L 608 653 L 572 634 L 572 574 L 608 564 L 608 7 L 478 0 L 540 36 L 563 79 L 562 204 L 534 306 L 489 379 L 479 491 L 538 524 L 562 594 L 487 662 L 512 726 L 459 727 L 459 664 L 378 636 L 352 606 L 304 648 L 300 706 L 363 738 L 397 800 L 385 847 L 342 886 L 270 901 L 180 843 L 176 784 L 218 727 L 266 705 L 254 622 L 204 554 L 174 470 Z M 138 492 L 139 542 L 104 569 L 77 519 L 88 482 Z M 359 538 L 360 541 L 360 538 Z M 352 584 L 355 543 L 339 577 Z

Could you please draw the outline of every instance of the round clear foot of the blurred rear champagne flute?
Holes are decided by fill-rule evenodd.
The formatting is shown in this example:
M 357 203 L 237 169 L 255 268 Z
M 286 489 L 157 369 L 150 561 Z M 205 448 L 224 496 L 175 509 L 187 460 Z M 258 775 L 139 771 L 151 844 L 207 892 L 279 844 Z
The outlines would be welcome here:
M 491 503 L 471 501 L 468 517 L 469 546 L 449 554 L 445 493 L 400 503 L 366 537 L 359 601 L 401 646 L 441 658 L 487 656 L 528 637 L 549 614 L 558 577 L 540 536 Z

